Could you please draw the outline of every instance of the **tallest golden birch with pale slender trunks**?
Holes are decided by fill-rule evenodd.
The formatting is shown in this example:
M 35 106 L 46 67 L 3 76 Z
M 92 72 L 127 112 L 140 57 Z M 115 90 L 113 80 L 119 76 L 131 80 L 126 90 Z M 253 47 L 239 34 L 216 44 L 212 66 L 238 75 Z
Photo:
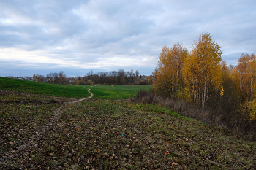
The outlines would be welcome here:
M 200 34 L 192 52 L 184 60 L 183 75 L 189 95 L 196 104 L 206 106 L 210 94 L 219 90 L 222 51 L 210 34 Z

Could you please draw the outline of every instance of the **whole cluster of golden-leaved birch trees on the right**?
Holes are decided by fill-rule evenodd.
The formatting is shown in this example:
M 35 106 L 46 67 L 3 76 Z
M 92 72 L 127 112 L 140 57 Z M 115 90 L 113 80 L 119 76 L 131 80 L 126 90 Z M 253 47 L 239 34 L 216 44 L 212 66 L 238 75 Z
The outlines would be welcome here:
M 237 66 L 228 66 L 221 55 L 209 33 L 197 36 L 190 53 L 178 43 L 164 46 L 154 71 L 154 91 L 200 105 L 202 111 L 205 107 L 230 114 L 239 110 L 255 119 L 255 55 L 241 54 Z

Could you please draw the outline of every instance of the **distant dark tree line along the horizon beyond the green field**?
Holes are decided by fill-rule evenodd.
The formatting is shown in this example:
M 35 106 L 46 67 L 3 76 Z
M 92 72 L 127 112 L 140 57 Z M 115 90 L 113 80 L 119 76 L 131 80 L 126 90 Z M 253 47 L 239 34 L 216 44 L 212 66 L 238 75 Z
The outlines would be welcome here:
M 37 82 L 47 82 L 53 84 L 72 84 L 72 85 L 91 85 L 91 84 L 106 84 L 106 85 L 151 85 L 153 76 L 140 75 L 139 71 L 125 72 L 124 69 L 119 69 L 118 72 L 97 72 L 92 70 L 86 75 L 80 77 L 68 77 L 63 71 L 59 73 L 49 73 L 46 76 L 39 74 L 33 75 L 33 80 Z

